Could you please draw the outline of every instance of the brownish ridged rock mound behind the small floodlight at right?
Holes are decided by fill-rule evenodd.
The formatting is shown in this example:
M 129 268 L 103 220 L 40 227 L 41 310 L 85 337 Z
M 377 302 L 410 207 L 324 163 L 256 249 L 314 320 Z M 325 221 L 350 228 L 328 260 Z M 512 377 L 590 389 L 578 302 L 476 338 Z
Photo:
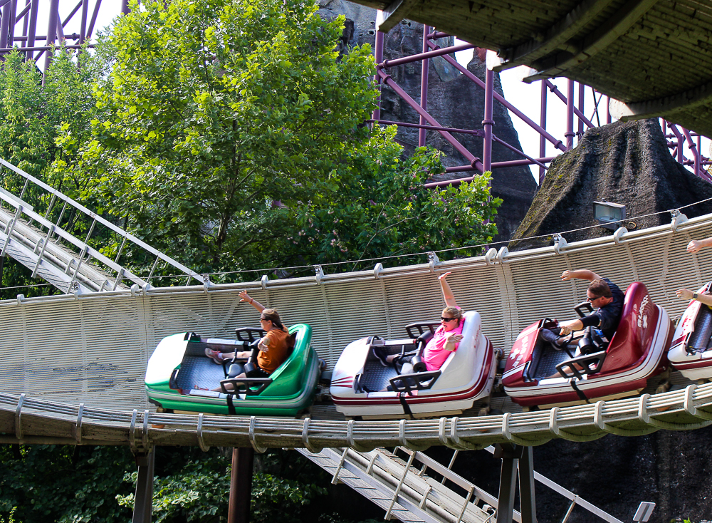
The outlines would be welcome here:
M 531 204 L 513 240 L 555 234 L 597 224 L 592 202 L 606 200 L 624 204 L 628 229 L 670 223 L 663 212 L 679 209 L 712 197 L 712 185 L 676 162 L 666 146 L 657 120 L 611 123 L 588 130 L 575 149 L 558 156 Z M 685 207 L 682 212 L 696 217 L 712 212 L 712 202 Z M 594 227 L 565 234 L 576 242 L 613 234 Z M 544 247 L 551 237 L 513 241 L 510 250 Z

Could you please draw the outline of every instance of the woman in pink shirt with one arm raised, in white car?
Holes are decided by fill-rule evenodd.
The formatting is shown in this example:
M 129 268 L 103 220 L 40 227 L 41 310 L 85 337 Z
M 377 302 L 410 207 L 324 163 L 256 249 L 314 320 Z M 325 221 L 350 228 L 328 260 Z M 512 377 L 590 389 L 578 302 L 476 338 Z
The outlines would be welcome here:
M 462 341 L 464 319 L 462 317 L 462 310 L 457 306 L 455 296 L 446 280 L 449 274 L 451 273 L 446 272 L 438 276 L 446 307 L 440 314 L 440 326 L 436 328 L 434 336 L 430 339 L 423 351 L 422 360 L 428 371 L 439 370 L 450 353 L 456 351 L 460 341 Z M 386 356 L 380 347 L 374 347 L 373 353 L 384 367 L 391 366 L 394 359 L 400 357 L 399 354 Z M 409 363 L 408 358 L 412 357 L 406 356 L 402 358 L 402 361 L 406 362 L 401 371 L 403 374 L 413 372 L 413 367 Z

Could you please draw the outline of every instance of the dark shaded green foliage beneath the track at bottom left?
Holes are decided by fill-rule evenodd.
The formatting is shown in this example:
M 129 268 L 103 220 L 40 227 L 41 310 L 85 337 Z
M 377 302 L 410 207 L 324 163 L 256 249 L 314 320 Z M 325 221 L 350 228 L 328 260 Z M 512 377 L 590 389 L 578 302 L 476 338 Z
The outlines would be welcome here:
M 164 523 L 224 521 L 231 450 L 156 450 L 152 518 Z M 256 457 L 251 522 L 316 521 L 323 514 L 325 472 L 296 452 Z M 0 523 L 125 523 L 137 481 L 127 447 L 0 445 Z M 342 523 L 332 514 L 328 523 Z

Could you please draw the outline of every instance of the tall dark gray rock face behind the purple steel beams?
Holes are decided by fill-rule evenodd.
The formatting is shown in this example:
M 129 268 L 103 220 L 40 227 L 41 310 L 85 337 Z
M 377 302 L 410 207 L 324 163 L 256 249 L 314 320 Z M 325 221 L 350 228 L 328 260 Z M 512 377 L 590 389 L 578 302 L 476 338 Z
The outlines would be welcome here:
M 375 10 L 342 0 L 321 0 L 320 14 L 333 18 L 343 14 L 354 23 L 353 37 L 350 45 L 375 43 Z M 385 35 L 384 59 L 392 60 L 422 52 L 423 26 L 411 21 L 403 21 Z M 453 38 L 441 38 L 440 46 L 452 45 Z M 473 54 L 473 60 L 468 64 L 468 70 L 484 81 L 486 66 L 483 55 Z M 389 68 L 388 73 L 394 81 L 405 90 L 416 102 L 420 100 L 421 63 L 407 63 Z M 495 90 L 502 94 L 499 75 L 495 75 Z M 468 78 L 447 63 L 444 58 L 431 59 L 429 63 L 428 82 L 428 112 L 443 127 L 481 130 L 484 118 L 484 90 L 476 86 Z M 419 123 L 417 112 L 402 100 L 393 90 L 384 88 L 381 96 L 381 118 L 405 123 Z M 513 128 L 511 118 L 506 108 L 495 103 L 493 108 L 495 125 L 493 132 L 498 138 L 520 149 L 519 138 Z M 407 155 L 412 154 L 418 146 L 419 130 L 414 128 L 399 128 L 397 140 L 405 148 Z M 444 152 L 444 165 L 468 165 L 468 161 L 448 143 L 440 133 L 427 133 L 428 145 Z M 482 157 L 483 139 L 466 134 L 454 135 L 476 157 Z M 493 162 L 520 160 L 521 157 L 499 144 L 493 145 Z M 475 172 L 458 172 L 437 177 L 436 180 L 453 180 L 468 177 Z M 537 185 L 527 167 L 508 167 L 496 169 L 493 172 L 492 195 L 500 197 L 503 204 L 499 208 L 496 224 L 498 236 L 495 241 L 506 241 L 519 226 L 533 200 Z

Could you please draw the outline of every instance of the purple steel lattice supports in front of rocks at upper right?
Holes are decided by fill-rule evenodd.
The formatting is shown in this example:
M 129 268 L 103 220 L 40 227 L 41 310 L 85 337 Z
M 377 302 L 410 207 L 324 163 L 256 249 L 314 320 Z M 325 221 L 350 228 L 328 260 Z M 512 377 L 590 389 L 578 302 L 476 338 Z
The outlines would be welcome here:
M 379 15 L 381 11 L 379 11 Z M 553 160 L 554 157 L 545 157 L 546 154 L 546 143 L 551 143 L 560 152 L 565 152 L 572 149 L 575 145 L 574 138 L 580 140 L 585 130 L 589 128 L 597 127 L 602 125 L 601 118 L 599 115 L 599 105 L 604 100 L 605 102 L 605 122 L 611 123 L 612 118 L 608 110 L 609 98 L 595 90 L 592 90 L 595 107 L 594 113 L 591 119 L 587 118 L 584 114 L 585 110 L 585 93 L 587 86 L 583 84 L 578 85 L 578 96 L 576 93 L 576 83 L 572 80 L 567 81 L 567 93 L 561 93 L 560 90 L 548 79 L 543 79 L 541 81 L 541 97 L 540 97 L 540 121 L 535 123 L 531 118 L 528 118 L 522 111 L 518 110 L 515 105 L 508 102 L 503 96 L 494 92 L 494 73 L 493 71 L 487 70 L 485 81 L 483 82 L 480 78 L 477 78 L 473 73 L 468 71 L 468 69 L 458 63 L 452 56 L 456 51 L 464 51 L 466 49 L 475 49 L 475 46 L 470 44 L 450 46 L 447 48 L 440 48 L 436 40 L 438 38 L 444 38 L 451 36 L 448 33 L 442 33 L 434 31 L 431 26 L 423 27 L 423 51 L 422 53 L 415 54 L 412 56 L 404 56 L 402 58 L 397 58 L 395 60 L 383 60 L 383 49 L 384 49 L 384 33 L 381 31 L 376 32 L 375 41 L 375 60 L 376 75 L 374 77 L 379 91 L 383 86 L 388 86 L 392 88 L 397 95 L 399 95 L 405 103 L 410 105 L 419 115 L 419 123 L 404 123 L 404 122 L 392 122 L 380 119 L 380 107 L 379 105 L 373 111 L 372 120 L 373 123 L 382 123 L 387 125 L 399 125 L 401 127 L 418 128 L 419 129 L 419 140 L 418 145 L 426 145 L 426 131 L 432 130 L 440 133 L 445 140 L 447 140 L 456 151 L 463 155 L 466 160 L 468 160 L 469 165 L 459 165 L 456 167 L 447 167 L 446 172 L 468 172 L 468 171 L 478 171 L 484 172 L 487 170 L 497 169 L 498 167 L 513 167 L 515 165 L 537 165 L 539 167 L 539 184 L 544 179 L 545 172 L 548 169 L 547 164 Z M 482 88 L 484 94 L 484 119 L 482 121 L 482 129 L 476 130 L 466 130 L 466 129 L 454 129 L 445 128 L 440 125 L 427 110 L 428 107 L 428 71 L 429 71 L 429 59 L 435 56 L 441 56 L 444 58 L 451 66 L 456 68 L 462 75 L 469 78 L 471 81 L 476 83 L 477 86 Z M 394 66 L 399 66 L 404 63 L 413 63 L 421 61 L 421 86 L 420 86 L 420 103 L 417 103 L 408 93 L 405 92 L 387 73 L 387 69 Z M 588 88 L 590 89 L 590 88 Z M 555 95 L 556 98 L 565 103 L 566 105 L 566 132 L 564 133 L 565 143 L 562 140 L 558 140 L 553 135 L 547 131 L 547 106 L 549 93 Z M 575 103 L 576 98 L 578 98 L 578 103 Z M 379 100 L 380 101 L 380 98 Z M 530 126 L 536 133 L 539 134 L 539 157 L 534 158 L 526 155 L 523 151 L 518 150 L 513 145 L 505 143 L 503 140 L 497 138 L 493 133 L 493 105 L 495 102 L 503 104 L 513 115 L 523 120 L 527 125 Z M 591 120 L 593 118 L 597 119 L 597 125 Z M 661 120 L 663 133 L 667 139 L 668 147 L 671 149 L 672 155 L 676 158 L 678 162 L 682 165 L 692 166 L 695 175 L 701 177 L 703 180 L 712 182 L 712 175 L 703 168 L 706 165 L 712 165 L 712 161 L 708 157 L 704 157 L 701 152 L 701 135 L 696 133 L 691 133 L 689 130 L 680 128 L 678 125 L 669 124 L 665 120 Z M 577 128 L 575 129 L 575 123 L 577 123 Z M 480 136 L 483 139 L 483 152 L 482 158 L 475 157 L 470 151 L 464 147 L 453 135 L 454 134 L 470 134 Z M 509 160 L 506 162 L 493 162 L 492 161 L 492 144 L 493 142 L 500 143 L 504 147 L 516 152 L 522 157 L 522 160 Z M 687 144 L 691 150 L 692 158 L 685 156 L 684 147 Z M 475 175 L 476 176 L 476 175 Z M 473 177 L 459 178 L 457 180 L 446 180 L 444 182 L 432 182 L 426 185 L 426 187 L 441 187 L 444 185 L 459 185 L 461 182 L 469 182 L 473 180 Z

